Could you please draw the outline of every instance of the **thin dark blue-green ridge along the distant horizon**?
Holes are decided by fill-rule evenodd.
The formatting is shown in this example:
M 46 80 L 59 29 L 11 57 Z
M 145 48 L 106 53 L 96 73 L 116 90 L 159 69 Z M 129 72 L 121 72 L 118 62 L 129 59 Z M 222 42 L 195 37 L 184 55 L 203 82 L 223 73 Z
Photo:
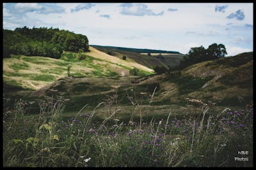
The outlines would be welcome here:
M 113 50 L 122 50 L 125 52 L 136 52 L 136 53 L 179 53 L 180 52 L 175 52 L 175 51 L 166 51 L 166 50 L 150 50 L 150 49 L 145 49 L 145 48 L 126 48 L 126 47 L 120 47 L 120 46 L 101 46 L 101 45 L 90 45 L 93 47 L 104 47 L 104 48 L 109 48 Z

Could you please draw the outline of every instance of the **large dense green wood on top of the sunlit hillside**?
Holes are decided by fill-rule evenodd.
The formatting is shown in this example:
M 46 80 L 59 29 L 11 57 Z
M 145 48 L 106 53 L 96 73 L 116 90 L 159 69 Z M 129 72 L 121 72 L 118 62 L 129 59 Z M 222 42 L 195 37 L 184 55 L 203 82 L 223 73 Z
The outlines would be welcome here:
M 40 27 L 3 29 L 3 57 L 10 54 L 44 56 L 59 59 L 63 51 L 87 52 L 88 38 L 74 32 Z

